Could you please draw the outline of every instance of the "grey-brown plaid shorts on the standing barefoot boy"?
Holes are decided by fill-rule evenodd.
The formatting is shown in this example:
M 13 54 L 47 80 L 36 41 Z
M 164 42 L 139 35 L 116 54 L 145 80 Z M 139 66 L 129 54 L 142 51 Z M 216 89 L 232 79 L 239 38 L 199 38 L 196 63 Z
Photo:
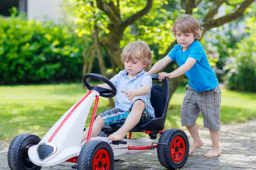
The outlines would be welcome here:
M 199 113 L 203 115 L 204 128 L 213 131 L 220 130 L 220 87 L 196 92 L 189 85 L 186 86 L 186 94 L 181 105 L 181 125 L 196 125 Z

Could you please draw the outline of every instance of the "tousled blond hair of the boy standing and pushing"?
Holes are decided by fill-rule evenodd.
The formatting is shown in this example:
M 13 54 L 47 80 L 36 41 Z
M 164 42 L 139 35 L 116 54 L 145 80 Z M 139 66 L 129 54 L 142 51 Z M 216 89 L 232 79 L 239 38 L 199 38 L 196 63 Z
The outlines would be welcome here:
M 177 31 L 181 33 L 193 33 L 195 40 L 200 40 L 203 34 L 203 28 L 200 27 L 196 17 L 187 14 L 179 16 L 176 19 L 171 31 L 174 35 L 176 35 Z

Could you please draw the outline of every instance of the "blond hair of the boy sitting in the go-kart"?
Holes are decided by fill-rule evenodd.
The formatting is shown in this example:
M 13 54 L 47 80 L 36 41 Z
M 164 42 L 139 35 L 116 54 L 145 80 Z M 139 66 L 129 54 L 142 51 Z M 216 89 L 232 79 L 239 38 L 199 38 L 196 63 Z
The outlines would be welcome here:
M 151 67 L 152 52 L 146 42 L 142 40 L 133 41 L 124 47 L 121 58 L 122 62 L 124 60 L 132 60 L 132 58 L 141 60 L 143 64 L 146 64 L 145 70 L 147 71 Z

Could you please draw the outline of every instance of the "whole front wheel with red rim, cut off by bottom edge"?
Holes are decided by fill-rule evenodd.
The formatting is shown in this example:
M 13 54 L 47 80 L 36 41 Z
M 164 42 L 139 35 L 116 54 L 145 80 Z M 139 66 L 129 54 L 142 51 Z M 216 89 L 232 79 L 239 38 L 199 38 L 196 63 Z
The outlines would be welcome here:
M 104 161 L 105 163 L 103 163 Z M 114 169 L 114 154 L 107 142 L 90 140 L 82 147 L 78 157 L 78 170 Z

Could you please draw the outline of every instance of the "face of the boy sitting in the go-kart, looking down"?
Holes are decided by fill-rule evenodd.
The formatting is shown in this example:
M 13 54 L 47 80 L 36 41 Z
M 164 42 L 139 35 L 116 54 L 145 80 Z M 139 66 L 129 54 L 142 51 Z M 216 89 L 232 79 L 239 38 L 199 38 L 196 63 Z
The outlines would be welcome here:
M 132 60 L 124 60 L 124 68 L 127 70 L 127 72 L 135 77 L 137 74 L 142 72 L 142 69 L 146 67 L 146 64 L 144 64 L 141 60 L 137 60 L 132 58 Z

